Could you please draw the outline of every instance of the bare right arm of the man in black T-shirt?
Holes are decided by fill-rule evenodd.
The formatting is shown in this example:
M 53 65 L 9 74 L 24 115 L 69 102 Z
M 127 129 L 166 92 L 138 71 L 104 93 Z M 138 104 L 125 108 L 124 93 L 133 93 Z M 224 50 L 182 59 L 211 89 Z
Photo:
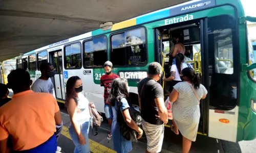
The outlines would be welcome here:
M 162 97 L 158 97 L 154 100 L 158 109 L 158 116 L 166 124 L 168 122 L 168 113 L 164 105 L 164 99 Z

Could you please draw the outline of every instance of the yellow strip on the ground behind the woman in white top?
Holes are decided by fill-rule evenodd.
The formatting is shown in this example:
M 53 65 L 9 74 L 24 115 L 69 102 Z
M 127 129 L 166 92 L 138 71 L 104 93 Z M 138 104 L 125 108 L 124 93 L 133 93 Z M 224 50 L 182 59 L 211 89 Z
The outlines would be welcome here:
M 61 134 L 65 137 L 69 138 L 70 140 L 72 140 L 70 135 L 69 135 L 69 128 L 68 127 L 63 126 Z M 103 146 L 103 145 L 99 144 L 98 142 L 95 142 L 91 139 L 89 139 L 89 141 L 90 141 L 90 150 L 93 153 L 98 153 L 98 152 L 116 153 L 115 150 L 112 150 L 111 148 Z

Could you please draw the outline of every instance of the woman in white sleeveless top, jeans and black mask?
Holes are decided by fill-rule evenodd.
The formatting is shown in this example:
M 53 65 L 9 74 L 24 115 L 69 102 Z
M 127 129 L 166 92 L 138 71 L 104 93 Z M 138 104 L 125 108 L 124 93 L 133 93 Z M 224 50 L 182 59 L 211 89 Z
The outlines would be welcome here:
M 69 78 L 66 88 L 66 105 L 71 121 L 69 134 L 75 144 L 74 153 L 90 152 L 88 132 L 91 116 L 89 105 L 91 107 L 94 107 L 94 105 L 89 104 L 88 99 L 81 92 L 81 79 L 77 76 Z

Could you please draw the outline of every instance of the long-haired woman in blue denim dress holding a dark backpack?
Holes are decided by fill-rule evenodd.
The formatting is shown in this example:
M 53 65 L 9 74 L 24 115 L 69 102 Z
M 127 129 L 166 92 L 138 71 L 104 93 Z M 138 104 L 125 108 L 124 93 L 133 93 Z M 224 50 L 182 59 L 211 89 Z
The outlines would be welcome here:
M 112 138 L 114 143 L 114 149 L 118 153 L 127 153 L 132 151 L 132 142 L 126 140 L 120 133 L 119 123 L 117 122 L 117 117 L 123 117 L 125 123 L 132 129 L 138 132 L 139 139 L 143 131 L 134 122 L 129 112 L 129 104 L 126 98 L 129 96 L 129 86 L 127 80 L 124 78 L 116 78 L 111 86 L 111 92 L 109 95 L 109 103 L 112 106 L 113 111 L 113 123 L 112 123 Z M 120 103 L 120 104 L 119 104 Z M 121 111 L 122 116 L 118 116 L 118 106 L 119 111 Z

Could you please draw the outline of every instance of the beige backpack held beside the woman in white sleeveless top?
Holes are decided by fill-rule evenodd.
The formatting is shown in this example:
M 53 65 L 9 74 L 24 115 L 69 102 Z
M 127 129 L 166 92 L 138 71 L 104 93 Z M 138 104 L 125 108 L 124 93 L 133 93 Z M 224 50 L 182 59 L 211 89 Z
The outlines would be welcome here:
M 92 117 L 92 120 L 91 120 L 92 133 L 94 136 L 96 136 L 98 134 L 98 127 L 103 121 L 103 118 L 101 116 L 101 113 L 98 112 L 95 108 L 92 108 L 91 105 L 89 105 L 89 112 L 90 112 L 90 116 Z M 95 128 L 95 134 L 93 132 L 93 128 Z

